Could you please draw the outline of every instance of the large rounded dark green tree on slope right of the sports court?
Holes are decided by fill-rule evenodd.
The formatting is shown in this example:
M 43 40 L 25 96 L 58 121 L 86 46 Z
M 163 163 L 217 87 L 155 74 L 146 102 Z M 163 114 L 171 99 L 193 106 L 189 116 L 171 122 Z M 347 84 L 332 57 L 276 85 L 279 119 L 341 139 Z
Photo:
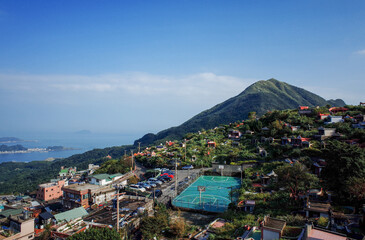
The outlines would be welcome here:
M 318 178 L 307 172 L 307 168 L 296 162 L 293 166 L 284 165 L 275 170 L 278 175 L 278 184 L 290 190 L 294 199 L 298 198 L 300 192 L 306 192 L 318 183 Z

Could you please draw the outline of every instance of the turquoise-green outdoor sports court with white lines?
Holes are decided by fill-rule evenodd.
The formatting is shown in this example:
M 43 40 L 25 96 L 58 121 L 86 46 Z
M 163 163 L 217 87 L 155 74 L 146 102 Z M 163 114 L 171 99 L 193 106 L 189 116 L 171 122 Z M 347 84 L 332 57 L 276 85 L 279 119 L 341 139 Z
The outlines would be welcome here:
M 238 189 L 240 185 L 241 180 L 235 177 L 200 176 L 172 201 L 172 205 L 207 212 L 224 212 L 231 203 L 231 189 Z M 201 195 L 198 186 L 205 187 Z M 232 200 L 235 200 L 234 196 Z

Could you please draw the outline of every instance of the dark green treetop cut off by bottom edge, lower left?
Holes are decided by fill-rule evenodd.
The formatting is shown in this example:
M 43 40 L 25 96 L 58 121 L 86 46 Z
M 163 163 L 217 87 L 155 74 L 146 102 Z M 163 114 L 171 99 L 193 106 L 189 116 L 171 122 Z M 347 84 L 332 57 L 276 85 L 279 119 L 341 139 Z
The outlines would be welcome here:
M 110 228 L 89 228 L 85 232 L 77 233 L 69 240 L 121 240 L 117 231 Z

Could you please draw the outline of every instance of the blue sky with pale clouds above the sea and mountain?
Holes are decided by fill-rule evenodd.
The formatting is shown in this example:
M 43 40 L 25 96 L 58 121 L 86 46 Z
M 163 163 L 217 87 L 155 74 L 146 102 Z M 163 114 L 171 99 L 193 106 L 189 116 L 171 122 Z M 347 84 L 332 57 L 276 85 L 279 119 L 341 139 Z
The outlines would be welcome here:
M 365 1 L 0 0 L 0 136 L 157 133 L 276 78 L 365 101 Z

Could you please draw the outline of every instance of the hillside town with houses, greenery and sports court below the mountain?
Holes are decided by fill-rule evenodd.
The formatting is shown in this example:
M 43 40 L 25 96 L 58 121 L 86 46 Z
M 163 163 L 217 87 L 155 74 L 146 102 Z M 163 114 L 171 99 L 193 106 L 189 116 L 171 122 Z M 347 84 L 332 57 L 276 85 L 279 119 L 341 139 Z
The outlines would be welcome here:
M 269 111 L 0 199 L 0 239 L 364 239 L 365 106 Z M 346 156 L 350 155 L 351 158 Z M 105 231 L 105 230 L 104 230 Z

